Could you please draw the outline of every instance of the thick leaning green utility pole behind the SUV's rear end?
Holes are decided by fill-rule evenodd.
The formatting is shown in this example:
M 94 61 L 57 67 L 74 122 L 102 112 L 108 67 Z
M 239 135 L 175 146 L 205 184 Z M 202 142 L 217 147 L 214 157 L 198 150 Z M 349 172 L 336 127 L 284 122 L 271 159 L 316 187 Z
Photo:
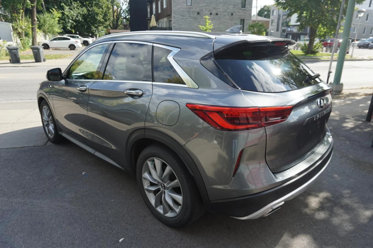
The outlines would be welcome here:
M 342 76 L 343 64 L 345 62 L 345 57 L 346 57 L 346 52 L 347 52 L 348 38 L 350 37 L 352 18 L 355 12 L 355 3 L 356 3 L 356 0 L 348 0 L 345 26 L 343 28 L 341 47 L 339 48 L 339 55 L 338 55 L 337 67 L 335 69 L 334 82 L 330 84 L 330 86 L 333 87 L 333 93 L 337 93 L 337 94 L 341 93 L 343 90 L 343 84 L 341 83 L 341 76 Z M 335 41 L 335 42 L 338 42 L 338 41 Z

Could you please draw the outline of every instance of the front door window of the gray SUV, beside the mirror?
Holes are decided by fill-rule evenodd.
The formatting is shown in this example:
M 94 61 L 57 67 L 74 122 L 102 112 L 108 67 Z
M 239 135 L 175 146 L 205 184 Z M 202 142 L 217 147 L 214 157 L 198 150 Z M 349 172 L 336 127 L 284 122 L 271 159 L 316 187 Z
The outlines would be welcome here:
M 108 44 L 97 45 L 82 54 L 71 65 L 68 79 L 94 79 L 103 55 L 106 54 Z

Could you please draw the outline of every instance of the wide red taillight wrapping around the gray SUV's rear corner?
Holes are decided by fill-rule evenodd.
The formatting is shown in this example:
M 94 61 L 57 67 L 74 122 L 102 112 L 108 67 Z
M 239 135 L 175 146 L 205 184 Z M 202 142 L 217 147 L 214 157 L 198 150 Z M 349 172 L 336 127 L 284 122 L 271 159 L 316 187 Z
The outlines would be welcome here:
M 248 130 L 282 123 L 294 107 L 242 108 L 189 103 L 186 106 L 211 127 L 224 131 Z

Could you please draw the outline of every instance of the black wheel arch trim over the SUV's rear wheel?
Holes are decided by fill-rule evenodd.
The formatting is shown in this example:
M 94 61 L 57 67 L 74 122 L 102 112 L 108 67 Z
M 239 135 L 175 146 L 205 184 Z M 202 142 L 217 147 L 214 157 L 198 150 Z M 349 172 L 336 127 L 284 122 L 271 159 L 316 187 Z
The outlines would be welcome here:
M 207 210 L 212 212 L 210 198 L 197 165 L 195 165 L 193 159 L 188 152 L 186 152 L 184 147 L 167 134 L 151 129 L 139 129 L 131 133 L 126 144 L 126 154 L 129 155 L 127 156 L 127 164 L 132 171 L 136 171 L 136 163 L 141 151 L 151 144 L 162 144 L 178 155 L 194 178 L 204 206 Z

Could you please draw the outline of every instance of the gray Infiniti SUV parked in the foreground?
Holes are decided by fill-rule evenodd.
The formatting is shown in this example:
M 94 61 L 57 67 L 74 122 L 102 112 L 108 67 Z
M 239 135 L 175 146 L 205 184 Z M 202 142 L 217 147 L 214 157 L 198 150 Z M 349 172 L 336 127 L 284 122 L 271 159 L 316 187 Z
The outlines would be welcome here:
M 146 31 L 96 39 L 37 92 L 48 140 L 133 172 L 161 222 L 256 219 L 306 190 L 333 150 L 331 88 L 289 39 Z

